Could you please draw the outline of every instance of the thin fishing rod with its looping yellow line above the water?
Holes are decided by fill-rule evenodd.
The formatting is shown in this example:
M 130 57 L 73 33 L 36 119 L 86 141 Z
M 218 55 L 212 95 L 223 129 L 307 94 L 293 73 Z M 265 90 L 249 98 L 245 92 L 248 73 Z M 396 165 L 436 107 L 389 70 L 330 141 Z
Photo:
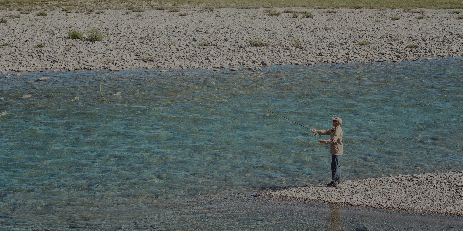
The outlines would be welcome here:
M 191 85 L 191 86 L 193 86 L 194 88 L 198 88 L 198 89 L 200 89 L 200 90 L 202 90 L 202 91 L 205 91 L 205 92 L 211 94 L 211 95 L 214 96 L 214 97 L 209 97 L 209 98 L 195 98 L 195 99 L 185 99 L 185 100 L 179 100 L 179 101 L 172 101 L 172 102 L 168 102 L 168 103 L 156 103 L 156 104 L 143 105 L 143 106 L 134 106 L 134 105 L 121 104 L 121 103 L 111 103 L 111 102 L 109 102 L 109 101 L 105 98 L 105 96 L 103 95 L 103 91 L 101 90 L 101 85 L 103 84 L 103 80 L 106 78 L 106 76 L 108 76 L 108 74 L 113 73 L 113 72 L 114 72 L 114 71 L 111 71 L 111 72 L 107 73 L 107 74 L 105 75 L 105 77 L 103 77 L 103 79 L 101 79 L 101 82 L 100 82 L 100 94 L 101 94 L 101 97 L 103 97 L 103 99 L 106 101 L 106 103 L 110 103 L 110 104 L 113 104 L 113 105 L 126 106 L 126 107 L 152 107 L 152 106 L 159 106 L 159 105 L 169 104 L 169 103 L 179 103 L 179 102 L 184 102 L 184 101 L 204 100 L 204 99 L 213 99 L 213 98 L 220 98 L 220 99 L 222 99 L 222 100 L 224 100 L 224 101 L 226 101 L 226 102 L 228 102 L 228 103 L 232 103 L 232 102 L 230 102 L 230 101 L 224 99 L 225 97 L 229 97 L 229 98 L 232 98 L 232 99 L 236 99 L 236 100 L 239 100 L 239 101 L 244 102 L 244 103 L 249 103 L 249 102 L 247 102 L 247 101 L 244 101 L 244 100 L 238 99 L 238 98 L 236 98 L 236 97 L 232 97 L 232 96 L 217 96 L 217 95 L 214 95 L 213 93 L 211 93 L 211 92 L 209 92 L 209 91 L 206 91 L 206 90 L 204 90 L 204 89 L 202 89 L 202 88 L 200 88 L 200 87 L 198 87 L 198 86 L 195 86 L 195 85 L 193 85 L 193 84 L 191 84 L 191 83 L 188 83 L 187 81 L 184 81 L 183 79 L 179 79 L 179 78 L 177 78 L 177 77 L 175 77 L 175 76 L 173 76 L 173 75 L 171 75 L 171 74 L 169 74 L 169 73 L 166 73 L 166 74 L 169 75 L 170 77 L 173 77 L 173 78 L 178 79 L 178 80 L 180 80 L 180 81 L 182 81 L 182 82 L 184 82 L 184 83 L 187 83 L 188 85 Z M 233 103 L 232 103 L 232 104 L 233 104 Z M 260 108 L 260 109 L 266 110 L 266 111 L 268 111 L 268 112 L 270 112 L 270 113 L 273 113 L 273 114 L 275 114 L 276 116 L 280 116 L 280 117 L 282 117 L 282 118 L 284 118 L 284 119 L 286 119 L 286 120 L 288 120 L 288 121 L 290 121 L 290 122 L 293 122 L 294 125 L 296 125 L 298 128 L 300 128 L 300 130 L 304 131 L 304 132 L 307 133 L 308 135 L 310 135 L 310 136 L 312 136 L 313 138 L 317 139 L 317 137 L 315 137 L 313 134 L 308 133 L 306 130 L 302 129 L 300 126 L 302 126 L 302 127 L 304 127 L 304 128 L 307 128 L 307 127 L 305 127 L 305 126 L 303 126 L 303 125 L 301 125 L 301 124 L 299 124 L 299 123 L 296 123 L 296 122 L 294 122 L 293 120 L 290 120 L 290 119 L 288 119 L 288 118 L 286 118 L 286 117 L 284 117 L 284 116 L 278 115 L 277 113 L 275 113 L 275 112 L 273 112 L 273 111 L 270 111 L 270 110 L 265 109 L 265 108 L 263 108 L 263 107 L 259 107 L 259 106 L 257 106 L 256 104 L 253 104 L 253 103 L 249 103 L 249 104 L 252 105 L 252 106 L 258 107 L 258 108 Z M 299 125 L 300 125 L 300 126 L 299 126 Z M 310 130 L 310 128 L 307 128 L 307 129 Z M 317 139 L 317 140 L 318 140 L 318 139 Z M 311 143 L 312 143 L 312 141 L 310 141 L 310 143 L 308 143 L 307 146 L 309 146 L 309 144 L 311 144 Z M 321 144 L 320 144 L 320 145 L 321 145 Z M 306 149 L 304 149 L 304 153 L 303 153 L 303 155 L 302 155 L 302 156 L 305 157 L 305 158 L 307 158 L 307 157 L 305 156 L 305 153 L 306 153 L 306 150 L 307 150 L 307 146 L 306 146 Z M 312 157 L 312 153 L 310 154 L 310 156 Z

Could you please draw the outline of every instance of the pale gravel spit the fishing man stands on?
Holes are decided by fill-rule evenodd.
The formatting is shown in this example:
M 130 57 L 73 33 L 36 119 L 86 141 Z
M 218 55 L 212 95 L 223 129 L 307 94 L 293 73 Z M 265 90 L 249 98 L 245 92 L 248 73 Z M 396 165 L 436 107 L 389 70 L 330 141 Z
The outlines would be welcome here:
M 463 171 L 390 174 L 388 177 L 350 180 L 332 188 L 313 185 L 271 190 L 256 196 L 463 216 Z

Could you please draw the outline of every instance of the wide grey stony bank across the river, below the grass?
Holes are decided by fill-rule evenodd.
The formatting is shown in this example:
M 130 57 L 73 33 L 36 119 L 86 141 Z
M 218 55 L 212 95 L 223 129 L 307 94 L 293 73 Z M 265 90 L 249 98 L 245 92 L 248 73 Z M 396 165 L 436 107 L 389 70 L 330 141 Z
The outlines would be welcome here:
M 451 10 L 335 9 L 335 13 L 326 13 L 326 9 L 305 9 L 313 18 L 301 18 L 302 14 L 293 18 L 292 13 L 268 16 L 263 9 L 199 10 L 146 10 L 142 16 L 136 12 L 124 15 L 125 10 L 69 15 L 55 10 L 47 11 L 47 16 L 31 12 L 21 14 L 21 18 L 8 18 L 18 11 L 0 11 L 0 16 L 8 19 L 6 24 L 0 23 L 0 44 L 11 44 L 0 46 L 0 71 L 129 67 L 255 70 L 272 64 L 463 55 L 463 20 Z M 418 19 L 421 15 L 424 18 Z M 392 20 L 393 16 L 401 18 Z M 84 32 L 85 38 L 85 31 L 91 28 L 107 37 L 98 42 L 67 38 L 67 32 L 74 29 Z M 250 46 L 249 40 L 259 38 L 266 46 Z M 299 48 L 292 46 L 295 39 L 300 39 Z M 361 41 L 370 44 L 359 45 Z M 39 43 L 44 47 L 33 48 Z M 142 61 L 143 57 L 152 57 L 152 61 Z

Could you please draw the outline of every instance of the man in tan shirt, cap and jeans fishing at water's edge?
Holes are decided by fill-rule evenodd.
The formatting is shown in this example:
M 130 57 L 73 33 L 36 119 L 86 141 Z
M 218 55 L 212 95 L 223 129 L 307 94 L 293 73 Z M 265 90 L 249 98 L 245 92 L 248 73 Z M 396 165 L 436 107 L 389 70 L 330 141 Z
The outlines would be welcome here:
M 320 135 L 330 135 L 331 139 L 322 140 L 320 143 L 330 144 L 330 153 L 332 154 L 331 160 L 331 182 L 326 184 L 326 187 L 337 187 L 341 183 L 341 155 L 344 152 L 343 146 L 343 130 L 341 129 L 341 124 L 343 121 L 341 118 L 331 118 L 333 120 L 333 128 L 328 130 L 317 130 L 310 129 L 314 134 L 318 133 Z

